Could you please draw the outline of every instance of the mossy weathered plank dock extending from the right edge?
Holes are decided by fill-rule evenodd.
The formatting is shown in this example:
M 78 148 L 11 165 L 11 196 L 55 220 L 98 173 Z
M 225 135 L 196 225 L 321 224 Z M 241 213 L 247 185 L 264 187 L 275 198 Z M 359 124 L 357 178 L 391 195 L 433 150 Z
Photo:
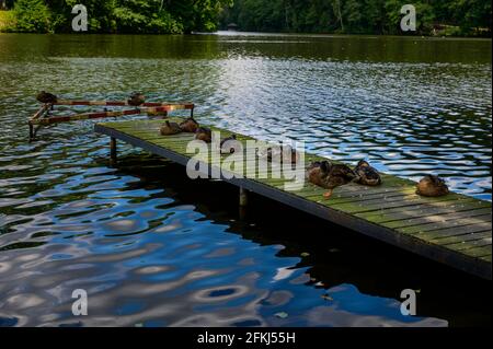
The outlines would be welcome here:
M 179 119 L 171 118 L 177 121 Z M 181 133 L 162 137 L 162 120 L 121 121 L 95 125 L 94 130 L 171 161 L 186 165 L 195 154 L 186 153 L 194 136 Z M 214 130 L 220 130 L 214 128 Z M 222 135 L 231 132 L 220 130 Z M 237 135 L 240 141 L 252 139 Z M 306 163 L 320 156 L 306 153 Z M 214 160 L 213 160 L 214 161 Z M 209 171 L 217 162 L 204 159 Z M 391 175 L 382 175 L 379 187 L 349 184 L 334 190 L 332 198 L 323 198 L 322 188 L 306 183 L 298 191 L 286 191 L 285 179 L 225 178 L 226 182 L 266 196 L 299 210 L 335 222 L 365 235 L 403 249 L 449 265 L 484 279 L 492 277 L 492 205 L 458 194 L 440 198 L 423 198 L 415 194 L 415 183 Z

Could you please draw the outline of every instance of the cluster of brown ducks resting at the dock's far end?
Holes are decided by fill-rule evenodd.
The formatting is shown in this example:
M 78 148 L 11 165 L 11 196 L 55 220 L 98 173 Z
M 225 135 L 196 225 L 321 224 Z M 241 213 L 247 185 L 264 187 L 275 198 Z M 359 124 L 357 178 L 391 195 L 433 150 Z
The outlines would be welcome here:
M 164 125 L 160 129 L 161 136 L 172 136 L 182 132 L 195 133 L 195 139 L 202 140 L 206 143 L 213 142 L 213 131 L 210 128 L 200 127 L 193 116 L 186 120 L 177 124 L 169 120 L 164 121 Z M 220 152 L 222 154 L 232 154 L 237 147 L 232 142 L 237 141 L 237 136 L 231 135 L 228 138 L 221 139 L 220 141 Z

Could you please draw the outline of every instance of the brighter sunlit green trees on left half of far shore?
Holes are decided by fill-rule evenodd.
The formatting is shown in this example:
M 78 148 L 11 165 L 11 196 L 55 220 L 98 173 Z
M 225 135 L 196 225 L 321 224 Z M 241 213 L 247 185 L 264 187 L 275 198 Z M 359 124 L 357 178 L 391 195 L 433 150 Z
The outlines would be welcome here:
M 88 9 L 92 33 L 190 33 L 216 31 L 232 0 L 18 0 L 19 32 L 71 32 L 72 7 Z

